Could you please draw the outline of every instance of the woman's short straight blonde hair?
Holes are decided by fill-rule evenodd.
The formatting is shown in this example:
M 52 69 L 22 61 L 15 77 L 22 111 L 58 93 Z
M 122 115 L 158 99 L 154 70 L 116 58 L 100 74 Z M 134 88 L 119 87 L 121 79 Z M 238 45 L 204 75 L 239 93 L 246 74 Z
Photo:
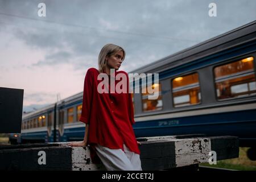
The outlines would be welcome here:
M 100 54 L 98 55 L 98 71 L 102 73 L 106 67 L 106 56 L 112 56 L 115 53 L 123 51 L 123 60 L 125 60 L 125 49 L 115 44 L 106 44 L 102 47 Z

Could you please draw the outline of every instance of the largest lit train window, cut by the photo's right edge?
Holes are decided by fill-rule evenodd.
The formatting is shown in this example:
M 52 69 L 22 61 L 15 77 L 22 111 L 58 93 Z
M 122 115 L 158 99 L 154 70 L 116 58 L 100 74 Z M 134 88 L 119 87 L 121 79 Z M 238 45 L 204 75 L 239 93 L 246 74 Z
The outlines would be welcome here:
M 214 68 L 218 100 L 256 94 L 253 57 Z

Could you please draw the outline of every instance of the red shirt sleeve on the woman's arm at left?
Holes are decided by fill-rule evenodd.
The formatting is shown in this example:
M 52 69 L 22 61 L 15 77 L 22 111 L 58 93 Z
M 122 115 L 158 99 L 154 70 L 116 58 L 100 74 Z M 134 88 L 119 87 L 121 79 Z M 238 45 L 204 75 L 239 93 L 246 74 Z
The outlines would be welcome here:
M 84 79 L 84 93 L 82 96 L 82 113 L 79 121 L 89 124 L 93 100 L 93 75 L 90 69 L 86 72 Z

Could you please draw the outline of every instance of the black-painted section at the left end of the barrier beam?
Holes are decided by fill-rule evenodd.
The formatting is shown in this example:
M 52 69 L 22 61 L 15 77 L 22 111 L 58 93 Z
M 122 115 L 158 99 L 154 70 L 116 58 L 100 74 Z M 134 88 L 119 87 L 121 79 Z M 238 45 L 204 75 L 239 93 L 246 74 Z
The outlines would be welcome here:
M 46 152 L 46 164 L 39 163 L 40 151 Z M 71 170 L 71 151 L 64 146 L 1 150 L 0 170 Z

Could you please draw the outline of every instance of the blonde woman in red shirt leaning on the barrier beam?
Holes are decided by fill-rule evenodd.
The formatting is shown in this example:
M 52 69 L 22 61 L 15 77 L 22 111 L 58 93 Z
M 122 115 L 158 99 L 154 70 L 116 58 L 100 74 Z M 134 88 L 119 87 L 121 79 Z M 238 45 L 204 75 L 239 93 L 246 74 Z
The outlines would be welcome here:
M 90 146 L 92 160 L 97 154 L 107 170 L 141 171 L 140 151 L 132 125 L 133 102 L 129 93 L 129 78 L 126 72 L 117 71 L 125 59 L 125 50 L 114 44 L 106 44 L 98 55 L 98 69 L 89 68 L 84 81 L 82 113 L 85 136 L 82 142 L 69 146 Z M 113 71 L 113 72 L 110 72 Z M 98 75 L 106 74 L 114 79 L 118 74 L 126 76 L 127 92 L 98 92 Z M 111 73 L 111 74 L 110 74 Z M 114 88 L 119 80 L 114 81 Z M 108 90 L 110 90 L 110 84 Z

